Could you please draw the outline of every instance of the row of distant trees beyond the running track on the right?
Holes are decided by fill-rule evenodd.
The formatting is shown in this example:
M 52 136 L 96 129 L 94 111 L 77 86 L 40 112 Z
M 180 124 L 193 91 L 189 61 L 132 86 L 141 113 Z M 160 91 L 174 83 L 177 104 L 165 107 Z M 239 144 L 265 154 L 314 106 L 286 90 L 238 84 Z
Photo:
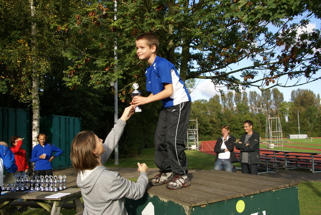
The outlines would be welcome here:
M 262 91 L 229 91 L 215 95 L 209 100 L 192 103 L 191 119 L 198 119 L 199 140 L 215 140 L 221 135 L 223 125 L 230 126 L 236 138 L 244 134 L 243 122 L 251 120 L 253 129 L 265 137 L 267 117 L 279 117 L 283 138 L 289 134 L 307 134 L 320 137 L 320 96 L 311 90 L 292 90 L 290 101 L 284 101 L 283 93 L 277 88 Z M 298 120 L 299 117 L 299 120 Z M 299 123 L 299 124 L 298 124 Z

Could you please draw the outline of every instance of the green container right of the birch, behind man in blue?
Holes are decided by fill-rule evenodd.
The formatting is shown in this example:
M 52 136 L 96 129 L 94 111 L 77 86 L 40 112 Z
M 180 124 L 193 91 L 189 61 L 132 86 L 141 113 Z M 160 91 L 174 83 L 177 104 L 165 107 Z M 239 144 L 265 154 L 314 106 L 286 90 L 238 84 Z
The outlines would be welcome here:
M 53 169 L 72 166 L 70 160 L 71 142 L 81 131 L 81 118 L 49 115 L 40 118 L 40 132 L 48 136 L 52 143 L 64 152 L 52 161 Z

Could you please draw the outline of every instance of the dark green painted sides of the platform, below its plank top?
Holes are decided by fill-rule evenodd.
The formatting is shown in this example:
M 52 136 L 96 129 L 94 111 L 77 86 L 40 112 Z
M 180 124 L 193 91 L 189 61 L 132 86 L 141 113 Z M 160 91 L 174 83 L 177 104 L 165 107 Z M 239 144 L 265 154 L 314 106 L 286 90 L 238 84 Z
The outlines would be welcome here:
M 293 186 L 196 206 L 182 205 L 175 201 L 145 193 L 139 200 L 126 198 L 125 207 L 129 215 L 300 215 L 297 193 L 297 186 Z

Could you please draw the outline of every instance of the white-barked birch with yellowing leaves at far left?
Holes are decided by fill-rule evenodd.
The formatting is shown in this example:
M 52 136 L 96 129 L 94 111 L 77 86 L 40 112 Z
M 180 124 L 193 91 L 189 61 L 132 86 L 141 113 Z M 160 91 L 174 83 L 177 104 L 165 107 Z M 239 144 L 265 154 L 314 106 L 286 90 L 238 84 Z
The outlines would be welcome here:
M 48 10 L 33 0 L 5 0 L 0 9 L 3 20 L 0 24 L 0 47 L 3 50 L 0 57 L 0 92 L 31 103 L 33 145 L 36 145 L 40 116 L 39 87 L 41 77 L 50 68 L 49 53 L 53 51 L 48 23 L 43 25 L 48 20 Z

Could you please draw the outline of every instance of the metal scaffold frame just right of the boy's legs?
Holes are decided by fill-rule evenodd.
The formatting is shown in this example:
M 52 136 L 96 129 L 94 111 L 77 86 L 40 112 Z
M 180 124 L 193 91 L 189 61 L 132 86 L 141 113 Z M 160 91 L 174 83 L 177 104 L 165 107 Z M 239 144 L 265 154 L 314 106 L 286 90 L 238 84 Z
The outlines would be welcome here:
M 185 145 L 188 150 L 199 150 L 199 127 L 197 118 L 189 122 Z

